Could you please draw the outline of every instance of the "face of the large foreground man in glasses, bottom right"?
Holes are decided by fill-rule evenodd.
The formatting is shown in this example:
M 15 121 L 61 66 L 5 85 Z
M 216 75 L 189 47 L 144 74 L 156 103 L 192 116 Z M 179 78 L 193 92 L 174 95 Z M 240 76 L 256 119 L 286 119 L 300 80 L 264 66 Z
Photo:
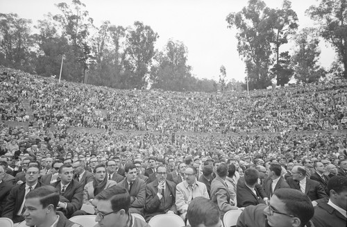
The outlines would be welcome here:
M 278 199 L 276 195 L 273 195 L 270 201 L 271 202 L 269 203 L 269 205 L 263 211 L 264 215 L 266 215 L 268 219 L 269 226 L 273 226 L 273 227 L 291 226 L 291 219 L 293 219 L 293 217 L 276 213 L 277 211 L 283 214 L 288 214 L 288 212 L 286 211 L 285 203 L 283 203 L 280 199 Z M 273 210 L 274 212 L 271 212 L 269 209 Z

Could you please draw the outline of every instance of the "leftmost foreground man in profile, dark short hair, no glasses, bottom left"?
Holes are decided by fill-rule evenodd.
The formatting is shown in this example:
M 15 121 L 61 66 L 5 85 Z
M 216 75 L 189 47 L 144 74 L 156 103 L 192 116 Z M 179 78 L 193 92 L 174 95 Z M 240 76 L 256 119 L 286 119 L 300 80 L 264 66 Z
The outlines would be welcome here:
M 26 210 L 23 216 L 26 226 L 81 227 L 69 221 L 62 212 L 56 211 L 59 194 L 55 187 L 45 185 L 29 192 L 25 197 Z

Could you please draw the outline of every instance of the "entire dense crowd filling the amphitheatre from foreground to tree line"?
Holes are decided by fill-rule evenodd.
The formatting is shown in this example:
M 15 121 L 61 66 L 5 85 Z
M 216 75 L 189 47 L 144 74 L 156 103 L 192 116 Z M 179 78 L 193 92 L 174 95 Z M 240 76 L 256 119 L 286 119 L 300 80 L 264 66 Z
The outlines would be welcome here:
M 27 208 L 49 192 L 49 226 L 87 214 L 119 227 L 137 214 L 145 221 L 133 226 L 148 226 L 176 214 L 194 227 L 205 220 L 196 212 L 218 222 L 239 209 L 237 226 L 346 224 L 347 83 L 248 97 L 111 90 L 1 70 L 1 217 L 40 226 Z M 105 215 L 119 210 L 117 220 Z

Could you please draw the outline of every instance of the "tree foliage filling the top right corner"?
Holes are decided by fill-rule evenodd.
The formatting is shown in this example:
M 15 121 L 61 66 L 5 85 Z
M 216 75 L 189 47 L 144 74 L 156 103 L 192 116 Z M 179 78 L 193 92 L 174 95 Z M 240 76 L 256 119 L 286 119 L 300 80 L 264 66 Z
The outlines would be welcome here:
M 319 22 L 319 35 L 335 48 L 347 78 L 347 1 L 321 0 L 319 6 L 311 6 L 306 12 Z

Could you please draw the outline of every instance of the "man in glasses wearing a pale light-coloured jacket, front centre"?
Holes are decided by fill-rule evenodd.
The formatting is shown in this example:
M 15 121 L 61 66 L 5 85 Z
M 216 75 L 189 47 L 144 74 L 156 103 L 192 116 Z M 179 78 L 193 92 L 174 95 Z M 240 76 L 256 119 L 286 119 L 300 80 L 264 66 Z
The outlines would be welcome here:
M 196 168 L 189 166 L 185 169 L 185 180 L 176 186 L 176 207 L 180 217 L 185 220 L 189 203 L 198 196 L 210 199 L 204 183 L 196 180 Z

